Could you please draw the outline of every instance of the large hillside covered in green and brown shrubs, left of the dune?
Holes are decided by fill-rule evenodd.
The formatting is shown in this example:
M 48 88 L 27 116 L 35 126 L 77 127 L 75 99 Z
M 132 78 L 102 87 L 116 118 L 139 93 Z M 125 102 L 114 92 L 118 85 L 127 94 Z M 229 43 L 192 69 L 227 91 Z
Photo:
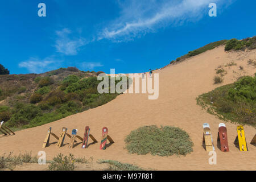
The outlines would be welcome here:
M 99 94 L 97 75 L 77 68 L 0 76 L 0 119 L 16 130 L 43 125 L 113 100 Z

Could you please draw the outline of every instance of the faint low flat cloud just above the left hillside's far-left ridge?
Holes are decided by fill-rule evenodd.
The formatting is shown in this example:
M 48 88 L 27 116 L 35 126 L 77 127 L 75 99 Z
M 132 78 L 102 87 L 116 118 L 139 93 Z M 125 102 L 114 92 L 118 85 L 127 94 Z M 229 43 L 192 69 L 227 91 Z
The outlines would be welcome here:
M 19 67 L 27 68 L 31 73 L 43 73 L 58 68 L 60 62 L 60 60 L 55 60 L 52 56 L 45 59 L 30 57 L 30 59 L 19 63 Z

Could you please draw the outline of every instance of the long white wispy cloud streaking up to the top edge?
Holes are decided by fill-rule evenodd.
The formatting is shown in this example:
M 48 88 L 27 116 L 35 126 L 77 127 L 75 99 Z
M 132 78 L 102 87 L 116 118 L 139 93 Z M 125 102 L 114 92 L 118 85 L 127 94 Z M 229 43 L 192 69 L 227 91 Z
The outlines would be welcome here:
M 111 39 L 117 42 L 133 39 L 170 23 L 183 24 L 186 20 L 199 20 L 208 15 L 208 5 L 221 5 L 224 0 L 131 0 L 119 2 L 121 16 L 105 27 L 98 40 Z M 218 6 L 220 8 L 220 6 Z

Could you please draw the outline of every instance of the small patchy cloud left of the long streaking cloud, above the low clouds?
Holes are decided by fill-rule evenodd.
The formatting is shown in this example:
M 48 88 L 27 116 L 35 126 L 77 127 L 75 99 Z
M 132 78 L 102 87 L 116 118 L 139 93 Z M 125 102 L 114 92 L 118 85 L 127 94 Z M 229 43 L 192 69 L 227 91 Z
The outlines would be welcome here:
M 69 38 L 71 30 L 63 28 L 61 31 L 56 31 L 57 39 L 55 47 L 57 52 L 64 53 L 65 55 L 77 55 L 77 51 L 81 46 L 86 44 L 84 38 Z

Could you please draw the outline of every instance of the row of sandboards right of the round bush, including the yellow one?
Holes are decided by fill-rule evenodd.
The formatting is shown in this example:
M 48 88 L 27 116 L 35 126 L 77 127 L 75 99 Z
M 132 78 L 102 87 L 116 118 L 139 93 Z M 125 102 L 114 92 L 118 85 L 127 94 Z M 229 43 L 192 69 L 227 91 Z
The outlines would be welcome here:
M 210 131 L 210 125 L 208 123 L 203 124 L 204 128 L 204 134 L 203 134 L 203 144 L 205 144 L 205 150 L 206 151 L 213 151 L 214 145 L 213 145 L 213 139 L 212 139 L 212 133 Z M 228 146 L 228 135 L 226 126 L 224 123 L 220 123 L 218 125 L 218 142 L 220 142 L 220 149 L 223 152 L 229 151 Z M 248 151 L 246 138 L 245 138 L 245 130 L 243 130 L 243 126 L 239 125 L 237 126 L 237 137 L 234 140 L 234 144 L 236 144 L 237 147 L 240 148 L 240 151 Z M 254 138 L 251 140 L 251 144 L 256 144 L 256 134 L 254 135 Z

